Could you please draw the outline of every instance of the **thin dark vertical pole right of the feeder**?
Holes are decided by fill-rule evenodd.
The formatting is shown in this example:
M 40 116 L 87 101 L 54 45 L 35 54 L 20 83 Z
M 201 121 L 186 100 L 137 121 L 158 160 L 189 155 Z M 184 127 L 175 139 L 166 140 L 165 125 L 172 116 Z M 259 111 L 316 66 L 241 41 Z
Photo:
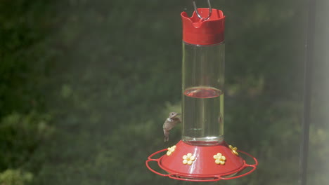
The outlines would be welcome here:
M 312 69 L 314 60 L 314 35 L 316 20 L 316 0 L 308 1 L 308 21 L 306 39 L 306 60 L 304 62 L 304 110 L 302 120 L 302 141 L 299 151 L 299 184 L 307 184 L 307 157 L 309 154 L 309 123 L 311 114 Z

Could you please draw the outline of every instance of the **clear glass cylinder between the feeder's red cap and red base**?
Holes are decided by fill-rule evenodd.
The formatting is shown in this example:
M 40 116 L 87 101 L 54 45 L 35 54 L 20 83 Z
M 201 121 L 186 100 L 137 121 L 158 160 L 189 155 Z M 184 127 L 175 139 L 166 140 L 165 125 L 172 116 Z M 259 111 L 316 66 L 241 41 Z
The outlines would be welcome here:
M 224 140 L 224 51 L 224 42 L 183 41 L 183 142 L 215 145 Z

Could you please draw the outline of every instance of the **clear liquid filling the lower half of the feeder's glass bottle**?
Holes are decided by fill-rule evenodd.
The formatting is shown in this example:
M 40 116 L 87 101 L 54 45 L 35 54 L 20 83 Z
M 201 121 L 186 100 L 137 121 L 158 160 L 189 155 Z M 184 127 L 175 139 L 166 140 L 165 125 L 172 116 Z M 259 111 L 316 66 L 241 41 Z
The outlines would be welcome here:
M 193 87 L 184 90 L 183 94 L 183 142 L 220 144 L 224 139 L 224 95 L 221 90 Z

